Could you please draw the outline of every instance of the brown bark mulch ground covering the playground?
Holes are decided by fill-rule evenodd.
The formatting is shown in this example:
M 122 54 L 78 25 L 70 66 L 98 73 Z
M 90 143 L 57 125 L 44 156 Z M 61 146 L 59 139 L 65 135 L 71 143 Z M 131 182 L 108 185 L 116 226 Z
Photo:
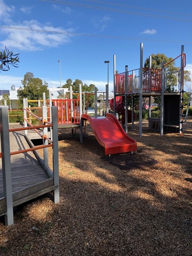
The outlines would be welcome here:
M 60 203 L 53 194 L 0 219 L 0 255 L 192 255 L 192 118 L 183 136 L 129 127 L 138 151 L 104 155 L 87 125 L 59 134 Z M 50 165 L 51 163 L 50 150 Z

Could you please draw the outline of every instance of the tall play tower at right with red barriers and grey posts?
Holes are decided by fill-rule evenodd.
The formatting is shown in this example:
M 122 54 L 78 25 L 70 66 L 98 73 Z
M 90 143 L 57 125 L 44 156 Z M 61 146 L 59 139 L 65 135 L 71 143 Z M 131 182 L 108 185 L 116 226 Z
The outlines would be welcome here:
M 149 127 L 159 128 L 160 135 L 168 129 L 178 129 L 183 134 L 183 93 L 184 93 L 184 67 L 185 54 L 184 46 L 181 46 L 181 54 L 173 59 L 181 58 L 180 70 L 177 72 L 180 77 L 179 92 L 166 92 L 166 74 L 165 67 L 170 63 L 161 63 L 161 69 L 143 68 L 143 44 L 140 44 L 140 68 L 128 71 L 125 66 L 125 72 L 118 74 L 116 71 L 116 56 L 114 55 L 114 114 L 118 114 L 119 108 L 124 108 L 125 132 L 127 133 L 127 123 L 129 112 L 127 111 L 127 101 L 132 100 L 132 130 L 134 129 L 134 100 L 139 98 L 139 136 L 142 136 L 142 98 L 161 97 L 161 117 L 151 119 L 151 109 L 149 108 Z M 171 62 L 172 62 L 171 61 Z M 170 73 L 169 73 L 170 74 Z M 121 101 L 119 100 L 121 97 Z M 119 106 L 119 101 L 121 106 Z M 123 102 L 123 103 L 122 103 Z M 123 104 L 123 106 L 122 106 Z M 158 125 L 156 125 L 158 123 Z

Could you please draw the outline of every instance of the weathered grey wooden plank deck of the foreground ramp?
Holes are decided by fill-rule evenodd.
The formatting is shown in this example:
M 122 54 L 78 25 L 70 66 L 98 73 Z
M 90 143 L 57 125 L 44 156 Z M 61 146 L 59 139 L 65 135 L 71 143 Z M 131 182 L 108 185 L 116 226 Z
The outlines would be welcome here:
M 9 129 L 19 124 L 10 124 Z M 34 133 L 32 131 L 30 134 Z M 31 134 L 33 137 L 33 134 Z M 10 151 L 16 152 L 30 148 L 24 131 L 9 133 Z M 6 200 L 3 191 L 2 161 L 0 161 L 0 216 L 6 212 Z M 31 151 L 11 156 L 11 176 L 13 206 L 22 204 L 49 191 L 56 189 L 49 167 L 42 167 L 39 159 Z

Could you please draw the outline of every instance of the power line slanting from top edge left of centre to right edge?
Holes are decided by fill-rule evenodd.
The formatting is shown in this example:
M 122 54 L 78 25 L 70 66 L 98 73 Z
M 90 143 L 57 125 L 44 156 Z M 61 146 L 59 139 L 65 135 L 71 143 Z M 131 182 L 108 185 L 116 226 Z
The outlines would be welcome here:
M 55 0 L 55 1 L 54 0 L 39 0 L 39 1 L 49 2 L 49 3 L 54 3 L 54 4 L 61 4 L 61 5 L 77 6 L 77 7 L 89 8 L 89 9 L 95 9 L 95 10 L 101 10 L 101 11 L 110 11 L 110 12 L 117 12 L 117 13 L 124 13 L 124 14 L 131 14 L 131 15 L 138 15 L 138 16 L 145 16 L 145 17 L 164 18 L 164 19 L 169 19 L 169 20 L 178 20 L 180 22 L 192 22 L 192 19 L 170 17 L 170 16 L 163 16 L 163 15 L 157 15 L 157 14 L 147 14 L 147 13 L 142 13 L 142 12 L 126 11 L 126 10 L 107 8 L 107 7 L 101 7 L 101 6 L 93 6 L 93 5 L 72 3 L 72 2 L 61 1 L 61 0 Z

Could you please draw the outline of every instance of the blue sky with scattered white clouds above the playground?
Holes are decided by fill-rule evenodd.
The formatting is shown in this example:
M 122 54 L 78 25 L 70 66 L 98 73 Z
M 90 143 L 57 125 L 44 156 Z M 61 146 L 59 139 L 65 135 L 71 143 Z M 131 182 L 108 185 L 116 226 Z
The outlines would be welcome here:
M 184 45 L 191 71 L 191 15 L 191 0 L 0 0 L 0 49 L 19 53 L 20 61 L 0 73 L 0 90 L 22 86 L 27 72 L 50 88 L 60 86 L 61 74 L 61 84 L 80 79 L 104 90 L 105 60 L 112 90 L 113 55 L 119 73 L 125 65 L 137 69 L 141 42 L 143 63 L 153 53 L 176 58 Z

